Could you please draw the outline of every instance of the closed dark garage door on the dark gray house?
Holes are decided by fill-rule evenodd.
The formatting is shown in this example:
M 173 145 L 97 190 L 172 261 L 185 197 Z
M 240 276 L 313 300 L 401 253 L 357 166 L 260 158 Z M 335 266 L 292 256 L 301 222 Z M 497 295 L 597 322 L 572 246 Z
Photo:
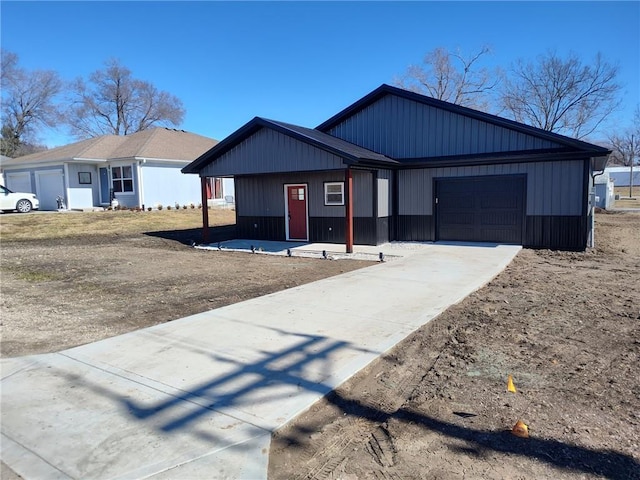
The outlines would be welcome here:
M 436 179 L 436 238 L 522 244 L 525 177 Z

